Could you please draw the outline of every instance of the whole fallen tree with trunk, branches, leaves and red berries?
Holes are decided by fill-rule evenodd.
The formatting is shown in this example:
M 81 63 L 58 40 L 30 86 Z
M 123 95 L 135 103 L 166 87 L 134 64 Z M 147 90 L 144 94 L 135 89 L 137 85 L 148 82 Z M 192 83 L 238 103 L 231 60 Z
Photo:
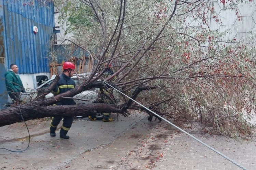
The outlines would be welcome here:
M 67 32 L 74 33 L 63 41 L 71 43 L 69 48 L 79 47 L 88 53 L 93 61 L 91 70 L 81 85 L 66 93 L 45 99 L 51 86 L 30 103 L 1 111 L 0 126 L 22 121 L 21 115 L 25 120 L 95 112 L 127 116 L 128 109 L 145 111 L 152 120 L 154 115 L 122 95 L 118 95 L 122 100 L 115 102 L 113 89 L 104 83 L 108 82 L 161 116 L 199 122 L 204 132 L 214 130 L 232 137 L 251 132 L 247 120 L 254 111 L 255 48 L 234 39 L 223 41 L 225 32 L 211 30 L 207 18 L 220 22 L 216 3 L 72 2 L 55 0 L 56 5 L 63 4 L 60 19 L 68 21 Z M 223 3 L 222 10 L 234 8 L 237 15 L 237 3 Z M 70 56 L 66 59 L 72 62 Z M 110 65 L 114 74 L 106 76 Z M 112 102 L 104 102 L 101 90 L 99 103 L 51 106 L 92 88 L 109 91 L 104 96 Z

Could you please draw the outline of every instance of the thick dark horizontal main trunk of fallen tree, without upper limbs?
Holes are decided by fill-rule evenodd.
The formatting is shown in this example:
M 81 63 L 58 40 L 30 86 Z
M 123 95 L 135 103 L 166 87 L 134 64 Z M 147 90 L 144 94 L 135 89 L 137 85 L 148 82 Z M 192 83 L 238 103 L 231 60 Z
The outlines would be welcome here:
M 0 126 L 22 122 L 30 119 L 53 117 L 53 116 L 84 116 L 96 113 L 120 113 L 127 114 L 116 108 L 115 105 L 105 103 L 81 104 L 81 105 L 58 105 L 45 106 L 37 104 L 23 104 L 5 109 L 0 113 Z

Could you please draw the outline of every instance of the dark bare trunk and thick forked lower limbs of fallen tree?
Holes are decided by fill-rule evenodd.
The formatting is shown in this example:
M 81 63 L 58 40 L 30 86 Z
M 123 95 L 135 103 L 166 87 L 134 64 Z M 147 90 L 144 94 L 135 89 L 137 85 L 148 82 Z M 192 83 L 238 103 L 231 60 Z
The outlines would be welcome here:
M 80 85 L 75 87 L 72 90 L 69 90 L 65 93 L 61 93 L 52 98 L 45 99 L 44 96 L 47 95 L 54 87 L 54 85 L 58 82 L 59 76 L 56 76 L 54 82 L 44 91 L 40 91 L 38 93 L 37 98 L 35 98 L 32 102 L 21 104 L 14 103 L 11 108 L 4 109 L 0 112 L 0 126 L 13 124 L 16 122 L 26 121 L 30 119 L 44 118 L 44 117 L 53 117 L 53 116 L 83 116 L 88 117 L 90 115 L 96 115 L 97 113 L 117 113 L 122 114 L 124 117 L 129 115 L 127 109 L 142 109 L 137 105 L 132 104 L 132 100 L 127 100 L 126 103 L 116 105 L 109 103 L 91 103 L 91 104 L 80 104 L 80 105 L 57 105 L 54 106 L 52 104 L 60 101 L 63 97 L 71 97 L 74 94 L 78 94 L 84 89 L 88 88 L 104 88 L 108 85 L 104 84 L 104 82 L 93 82 L 85 85 Z M 108 87 L 109 88 L 109 87 Z M 154 87 L 137 87 L 137 89 L 133 92 L 131 98 L 133 100 L 136 99 L 138 94 L 142 90 L 154 89 Z M 106 94 L 101 94 L 105 95 Z M 110 96 L 107 96 L 111 98 Z M 104 102 L 104 100 L 102 100 Z M 143 109 L 145 110 L 145 109 Z M 151 113 L 149 113 L 151 115 Z M 153 115 L 152 115 L 153 116 Z M 159 119 L 160 120 L 160 119 Z

